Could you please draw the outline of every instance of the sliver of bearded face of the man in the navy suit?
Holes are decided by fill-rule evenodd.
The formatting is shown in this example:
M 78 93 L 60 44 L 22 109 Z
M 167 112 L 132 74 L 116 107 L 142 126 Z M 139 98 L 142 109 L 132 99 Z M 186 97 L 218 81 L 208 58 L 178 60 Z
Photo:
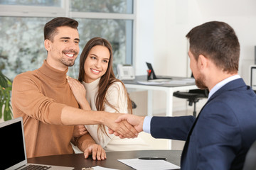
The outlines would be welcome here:
M 198 86 L 199 89 L 207 89 L 207 86 L 205 84 L 206 77 L 200 72 L 200 69 L 198 68 L 198 62 L 196 61 L 190 50 L 188 51 L 188 56 L 191 60 L 190 68 L 193 73 L 193 77 L 196 80 L 196 86 Z

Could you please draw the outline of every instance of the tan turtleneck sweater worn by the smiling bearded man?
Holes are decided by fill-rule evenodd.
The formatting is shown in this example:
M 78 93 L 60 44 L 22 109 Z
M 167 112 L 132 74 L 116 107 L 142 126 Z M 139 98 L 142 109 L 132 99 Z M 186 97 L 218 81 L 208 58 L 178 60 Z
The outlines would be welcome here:
M 23 118 L 28 158 L 73 153 L 73 126 L 60 120 L 65 105 L 78 108 L 65 79 L 67 72 L 50 67 L 45 60 L 41 68 L 14 79 L 11 103 L 14 118 Z

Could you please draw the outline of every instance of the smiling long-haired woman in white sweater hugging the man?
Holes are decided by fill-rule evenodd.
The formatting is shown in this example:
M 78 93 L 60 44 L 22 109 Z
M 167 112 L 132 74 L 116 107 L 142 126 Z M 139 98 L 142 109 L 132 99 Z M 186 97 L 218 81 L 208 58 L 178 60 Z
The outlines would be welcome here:
M 80 107 L 92 111 L 132 114 L 132 101 L 124 84 L 114 77 L 112 46 L 103 38 L 92 38 L 87 42 L 80 56 L 78 81 L 68 79 Z M 85 99 L 86 98 L 86 99 Z M 89 132 L 105 151 L 150 149 L 140 137 L 120 139 L 108 133 L 104 125 L 85 125 L 75 128 L 74 134 Z

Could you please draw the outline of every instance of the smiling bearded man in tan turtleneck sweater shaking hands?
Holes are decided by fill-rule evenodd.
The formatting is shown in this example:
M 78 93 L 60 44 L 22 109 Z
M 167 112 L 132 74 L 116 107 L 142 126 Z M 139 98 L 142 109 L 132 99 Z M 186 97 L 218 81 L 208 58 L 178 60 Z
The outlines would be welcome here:
M 79 109 L 66 79 L 68 67 L 78 57 L 78 22 L 54 18 L 46 23 L 44 36 L 48 55 L 42 67 L 19 74 L 13 82 L 11 103 L 14 118 L 23 118 L 27 156 L 72 154 L 73 142 L 85 158 L 92 154 L 93 159 L 106 159 L 89 133 L 73 137 L 73 125 L 103 124 L 126 137 L 137 136 L 137 131 L 126 121 L 114 123 L 118 113 Z

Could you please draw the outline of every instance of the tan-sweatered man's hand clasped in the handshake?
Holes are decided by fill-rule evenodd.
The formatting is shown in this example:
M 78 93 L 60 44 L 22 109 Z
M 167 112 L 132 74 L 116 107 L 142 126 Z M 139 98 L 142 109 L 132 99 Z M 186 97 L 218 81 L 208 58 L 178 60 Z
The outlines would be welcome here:
M 118 122 L 114 122 L 119 118 L 120 115 L 128 115 L 122 113 L 106 113 L 107 115 L 104 117 L 103 123 L 108 128 L 118 133 L 120 138 L 134 138 L 139 134 L 137 130 L 130 125 L 127 120 L 119 120 Z

